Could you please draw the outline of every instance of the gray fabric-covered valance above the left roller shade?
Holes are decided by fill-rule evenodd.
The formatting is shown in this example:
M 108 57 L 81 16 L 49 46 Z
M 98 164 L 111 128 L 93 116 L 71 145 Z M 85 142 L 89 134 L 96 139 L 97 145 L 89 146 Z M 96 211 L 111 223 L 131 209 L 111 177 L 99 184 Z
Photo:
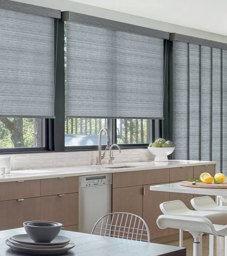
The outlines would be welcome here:
M 57 18 L 57 19 L 61 18 L 60 10 L 46 8 L 46 7 L 37 6 L 37 5 L 25 4 L 21 2 L 10 1 L 10 0 L 8 1 L 0 0 L 0 9 L 46 16 L 46 17 Z

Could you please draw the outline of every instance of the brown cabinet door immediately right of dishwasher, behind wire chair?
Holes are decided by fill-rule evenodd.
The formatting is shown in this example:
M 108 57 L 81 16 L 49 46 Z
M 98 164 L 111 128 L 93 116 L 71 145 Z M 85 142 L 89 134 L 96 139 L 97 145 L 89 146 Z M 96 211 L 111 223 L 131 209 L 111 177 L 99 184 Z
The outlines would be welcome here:
M 142 186 L 113 188 L 112 212 L 128 212 L 142 217 Z

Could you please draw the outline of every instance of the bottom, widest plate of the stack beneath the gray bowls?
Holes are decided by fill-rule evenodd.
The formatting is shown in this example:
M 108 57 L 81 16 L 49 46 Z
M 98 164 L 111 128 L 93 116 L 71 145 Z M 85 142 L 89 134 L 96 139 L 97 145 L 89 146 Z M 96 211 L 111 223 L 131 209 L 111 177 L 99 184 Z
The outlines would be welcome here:
M 54 254 L 54 253 L 62 253 L 72 249 L 75 244 L 70 242 L 68 245 L 64 246 L 63 248 L 55 248 L 55 249 L 34 249 L 34 248 L 24 248 L 20 246 L 13 245 L 6 240 L 6 244 L 15 251 L 25 252 L 25 253 L 36 253 L 36 254 Z

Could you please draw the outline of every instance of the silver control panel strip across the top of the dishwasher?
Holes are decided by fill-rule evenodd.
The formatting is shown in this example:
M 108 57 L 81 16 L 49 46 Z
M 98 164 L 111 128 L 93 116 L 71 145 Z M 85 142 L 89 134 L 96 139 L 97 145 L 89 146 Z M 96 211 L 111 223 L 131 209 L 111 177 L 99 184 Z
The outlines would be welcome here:
M 112 184 L 112 173 L 79 177 L 79 187 L 92 187 Z

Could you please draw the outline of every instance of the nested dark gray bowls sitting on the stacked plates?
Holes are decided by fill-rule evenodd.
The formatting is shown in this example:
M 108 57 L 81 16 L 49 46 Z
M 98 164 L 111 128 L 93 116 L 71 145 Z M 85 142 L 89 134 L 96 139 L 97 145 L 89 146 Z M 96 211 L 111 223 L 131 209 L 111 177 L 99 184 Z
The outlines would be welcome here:
M 50 243 L 62 228 L 61 223 L 51 221 L 26 221 L 23 225 L 26 233 L 35 243 Z

